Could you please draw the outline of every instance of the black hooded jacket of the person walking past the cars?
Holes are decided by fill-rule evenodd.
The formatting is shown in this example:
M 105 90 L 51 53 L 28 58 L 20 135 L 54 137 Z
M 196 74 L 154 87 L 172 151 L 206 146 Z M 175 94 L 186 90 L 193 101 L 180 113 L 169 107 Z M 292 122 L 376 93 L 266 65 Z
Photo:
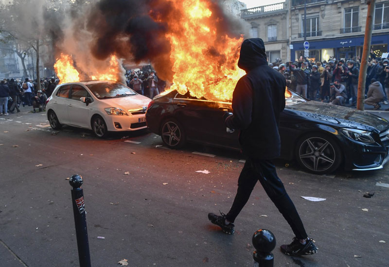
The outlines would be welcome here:
M 241 130 L 239 142 L 248 157 L 277 158 L 281 148 L 278 125 L 285 108 L 285 78 L 268 66 L 260 38 L 243 41 L 238 67 L 247 74 L 235 86 L 233 115 L 226 118 L 226 125 Z

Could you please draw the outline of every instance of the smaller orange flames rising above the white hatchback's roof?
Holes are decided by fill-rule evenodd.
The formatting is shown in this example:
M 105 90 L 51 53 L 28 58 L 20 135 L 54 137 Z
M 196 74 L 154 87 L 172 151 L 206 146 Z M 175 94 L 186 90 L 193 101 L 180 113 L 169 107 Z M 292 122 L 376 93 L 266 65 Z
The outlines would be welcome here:
M 60 83 L 79 82 L 80 74 L 74 67 L 73 59 L 70 55 L 61 53 L 61 56 L 57 59 L 54 64 L 55 73 L 57 74 Z M 119 77 L 120 65 L 117 57 L 111 55 L 109 60 L 109 66 L 106 69 L 98 71 L 94 75 L 87 75 L 86 79 L 90 80 L 111 80 L 121 81 Z

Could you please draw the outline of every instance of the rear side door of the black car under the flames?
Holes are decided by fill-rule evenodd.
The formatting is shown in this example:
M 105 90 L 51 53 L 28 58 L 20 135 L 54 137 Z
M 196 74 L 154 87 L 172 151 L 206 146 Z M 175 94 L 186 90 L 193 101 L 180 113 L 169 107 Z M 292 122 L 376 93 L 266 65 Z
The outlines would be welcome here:
M 199 100 L 189 92 L 185 95 L 177 94 L 172 101 L 174 116 L 183 125 L 188 139 L 210 142 L 210 129 L 213 120 L 209 117 L 215 102 Z

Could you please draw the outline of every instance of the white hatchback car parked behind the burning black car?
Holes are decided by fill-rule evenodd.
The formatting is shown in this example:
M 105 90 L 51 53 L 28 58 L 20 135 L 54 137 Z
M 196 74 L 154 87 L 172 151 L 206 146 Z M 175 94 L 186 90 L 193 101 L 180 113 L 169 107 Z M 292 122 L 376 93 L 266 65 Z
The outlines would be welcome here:
M 57 85 L 46 110 L 53 129 L 66 124 L 105 137 L 110 131 L 146 128 L 145 113 L 150 101 L 122 83 L 85 81 Z

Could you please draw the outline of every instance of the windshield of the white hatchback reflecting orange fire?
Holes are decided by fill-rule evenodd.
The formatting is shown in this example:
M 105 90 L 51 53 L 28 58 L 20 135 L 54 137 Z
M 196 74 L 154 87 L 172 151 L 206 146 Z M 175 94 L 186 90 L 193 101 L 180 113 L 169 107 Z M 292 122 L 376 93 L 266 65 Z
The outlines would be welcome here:
M 93 93 L 93 95 L 95 95 L 98 99 L 127 97 L 134 96 L 137 94 L 132 89 L 128 88 L 122 83 L 105 82 L 90 83 L 86 85 Z

